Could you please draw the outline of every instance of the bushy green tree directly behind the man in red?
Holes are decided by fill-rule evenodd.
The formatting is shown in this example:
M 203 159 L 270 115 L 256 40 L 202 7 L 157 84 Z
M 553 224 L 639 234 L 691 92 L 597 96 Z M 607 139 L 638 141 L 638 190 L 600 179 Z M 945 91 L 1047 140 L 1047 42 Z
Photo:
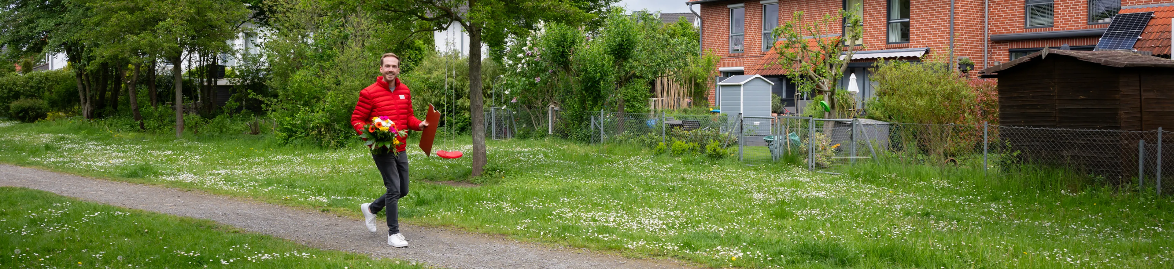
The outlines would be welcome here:
M 432 35 L 379 20 L 386 12 L 344 0 L 268 2 L 272 35 L 262 47 L 262 72 L 272 90 L 265 109 L 283 142 L 342 147 L 355 139 L 349 125 L 358 90 L 379 75 L 379 55 L 396 52 L 407 74 L 433 51 Z

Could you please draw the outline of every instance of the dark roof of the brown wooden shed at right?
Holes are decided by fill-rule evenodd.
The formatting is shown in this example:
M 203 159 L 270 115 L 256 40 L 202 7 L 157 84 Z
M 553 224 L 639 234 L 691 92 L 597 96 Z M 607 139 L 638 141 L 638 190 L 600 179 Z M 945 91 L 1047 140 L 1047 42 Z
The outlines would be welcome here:
M 1046 54 L 1046 55 L 1045 55 Z M 999 70 L 1005 70 L 1019 63 L 1032 61 L 1035 59 L 1044 59 L 1047 55 L 1064 55 L 1080 59 L 1087 62 L 1101 63 L 1111 67 L 1158 67 L 1158 68 L 1174 68 L 1174 60 L 1156 58 L 1151 55 L 1141 55 L 1131 52 L 1118 52 L 1118 51 L 1061 51 L 1044 48 L 1039 52 L 1027 54 L 1013 61 L 1004 62 L 1003 65 L 992 66 L 990 68 L 983 69 L 983 74 L 993 74 Z

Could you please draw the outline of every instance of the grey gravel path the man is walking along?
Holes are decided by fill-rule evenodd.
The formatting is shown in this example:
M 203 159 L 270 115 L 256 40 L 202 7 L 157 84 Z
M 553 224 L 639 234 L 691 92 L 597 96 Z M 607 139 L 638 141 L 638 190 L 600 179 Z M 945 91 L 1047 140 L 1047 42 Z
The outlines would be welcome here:
M 502 236 L 410 224 L 400 224 L 400 230 L 411 247 L 397 249 L 386 244 L 385 226 L 380 226 L 379 233 L 371 234 L 360 216 L 339 217 L 202 191 L 95 180 L 11 164 L 0 164 L 0 186 L 41 189 L 119 207 L 207 218 L 315 248 L 403 258 L 444 268 L 693 268 L 676 261 L 633 260 L 582 249 L 517 242 Z

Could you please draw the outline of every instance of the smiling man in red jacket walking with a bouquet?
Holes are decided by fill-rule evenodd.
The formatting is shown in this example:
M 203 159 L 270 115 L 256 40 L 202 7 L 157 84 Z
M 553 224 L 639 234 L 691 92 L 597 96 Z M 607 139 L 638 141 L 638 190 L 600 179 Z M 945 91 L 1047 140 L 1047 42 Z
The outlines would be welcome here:
M 355 132 L 363 134 L 363 126 L 371 123 L 371 117 L 387 116 L 396 123 L 397 129 L 424 130 L 429 123 L 416 119 L 412 113 L 412 94 L 403 82 L 399 81 L 399 56 L 394 53 L 386 53 L 379 58 L 379 73 L 375 83 L 359 92 L 359 101 L 351 113 L 351 126 Z M 396 150 L 384 154 L 372 154 L 375 166 L 383 175 L 383 186 L 387 193 L 383 194 L 370 203 L 360 207 L 363 216 L 366 217 L 366 227 L 371 233 L 376 233 L 375 214 L 387 208 L 387 244 L 392 247 L 407 247 L 407 240 L 399 233 L 399 199 L 407 195 L 407 147 L 405 137 L 398 137 L 399 146 Z M 394 154 L 394 155 L 393 155 Z

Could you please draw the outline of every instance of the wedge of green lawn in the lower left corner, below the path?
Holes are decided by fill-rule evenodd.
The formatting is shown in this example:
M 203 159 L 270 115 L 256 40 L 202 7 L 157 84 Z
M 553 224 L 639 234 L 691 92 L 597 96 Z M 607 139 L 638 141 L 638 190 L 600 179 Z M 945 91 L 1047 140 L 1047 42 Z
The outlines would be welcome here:
M 212 221 L 0 187 L 4 268 L 421 268 Z

